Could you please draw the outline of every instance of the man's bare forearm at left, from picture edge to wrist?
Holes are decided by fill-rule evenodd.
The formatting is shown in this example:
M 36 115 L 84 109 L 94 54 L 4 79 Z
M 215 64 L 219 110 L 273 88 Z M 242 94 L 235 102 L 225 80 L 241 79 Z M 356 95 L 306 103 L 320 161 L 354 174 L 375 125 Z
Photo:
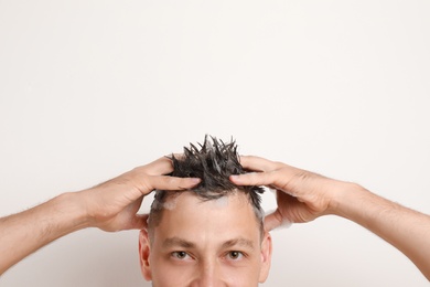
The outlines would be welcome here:
M 87 226 L 75 193 L 64 193 L 33 209 L 0 219 L 0 275 L 71 232 Z

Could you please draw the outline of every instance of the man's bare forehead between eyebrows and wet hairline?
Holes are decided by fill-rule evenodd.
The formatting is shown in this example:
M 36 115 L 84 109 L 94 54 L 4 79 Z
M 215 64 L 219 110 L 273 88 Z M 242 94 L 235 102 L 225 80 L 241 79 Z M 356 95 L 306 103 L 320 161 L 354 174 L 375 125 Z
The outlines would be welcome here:
M 174 236 L 201 243 L 260 236 L 259 222 L 244 192 L 208 201 L 183 192 L 169 196 L 162 213 L 160 224 L 154 228 L 155 242 Z

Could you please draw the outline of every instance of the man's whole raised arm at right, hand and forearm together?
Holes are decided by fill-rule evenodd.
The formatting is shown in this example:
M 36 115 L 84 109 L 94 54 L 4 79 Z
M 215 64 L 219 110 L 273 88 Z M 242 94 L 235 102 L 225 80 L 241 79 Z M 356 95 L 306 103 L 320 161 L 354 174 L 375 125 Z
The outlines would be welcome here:
M 240 185 L 277 190 L 278 209 L 266 216 L 270 231 L 284 222 L 304 223 L 333 214 L 351 220 L 402 252 L 430 280 L 430 216 L 383 199 L 363 187 L 258 157 L 241 157 L 255 171 L 230 177 Z

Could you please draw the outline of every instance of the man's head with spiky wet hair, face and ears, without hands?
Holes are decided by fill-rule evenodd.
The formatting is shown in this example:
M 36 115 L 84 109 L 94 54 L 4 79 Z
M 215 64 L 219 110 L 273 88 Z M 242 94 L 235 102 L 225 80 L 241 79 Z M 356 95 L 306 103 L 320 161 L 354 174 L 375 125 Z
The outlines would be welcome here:
M 157 191 L 140 235 L 143 276 L 155 287 L 257 286 L 268 275 L 271 238 L 264 232 L 259 187 L 244 173 L 235 142 L 207 137 L 172 156 L 171 176 L 201 178 L 191 191 Z

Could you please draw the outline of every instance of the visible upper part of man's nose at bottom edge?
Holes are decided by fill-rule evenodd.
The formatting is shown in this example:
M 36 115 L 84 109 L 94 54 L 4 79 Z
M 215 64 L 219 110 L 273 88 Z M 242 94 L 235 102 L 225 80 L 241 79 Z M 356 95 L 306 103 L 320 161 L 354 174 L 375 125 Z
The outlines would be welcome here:
M 204 261 L 198 264 L 195 280 L 190 287 L 224 287 L 219 266 L 216 261 Z

